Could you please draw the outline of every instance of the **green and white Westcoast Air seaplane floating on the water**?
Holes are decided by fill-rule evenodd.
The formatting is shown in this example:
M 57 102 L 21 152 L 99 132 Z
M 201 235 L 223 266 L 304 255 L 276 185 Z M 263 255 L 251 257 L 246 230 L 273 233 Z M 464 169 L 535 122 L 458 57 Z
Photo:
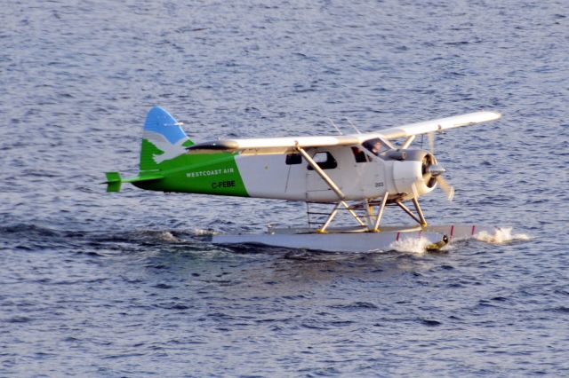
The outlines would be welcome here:
M 434 134 L 461 126 L 497 120 L 493 111 L 454 115 L 383 130 L 337 135 L 284 138 L 219 138 L 195 143 L 171 114 L 152 107 L 144 123 L 140 173 L 121 177 L 106 172 L 107 192 L 130 183 L 165 193 L 201 193 L 304 201 L 325 206 L 315 224 L 268 226 L 264 233 L 215 234 L 213 244 L 260 244 L 333 252 L 389 250 L 393 243 L 425 240 L 426 250 L 450 240 L 469 239 L 496 227 L 477 224 L 431 225 L 419 198 L 440 187 L 449 200 L 454 189 L 433 153 Z M 426 134 L 429 150 L 412 148 Z M 402 211 L 411 225 L 381 224 L 386 208 Z M 413 208 L 413 209 L 411 209 Z M 344 224 L 335 224 L 339 212 Z M 345 224 L 346 217 L 350 224 Z

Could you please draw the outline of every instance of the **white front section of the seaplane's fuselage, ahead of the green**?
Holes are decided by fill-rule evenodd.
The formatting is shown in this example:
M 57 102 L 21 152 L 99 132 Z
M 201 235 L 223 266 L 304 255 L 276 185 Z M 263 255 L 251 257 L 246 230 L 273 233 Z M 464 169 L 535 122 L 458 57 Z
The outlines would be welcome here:
M 322 164 L 319 165 L 341 189 L 344 200 L 373 199 L 382 197 L 386 191 L 389 197 L 405 194 L 403 198 L 408 199 L 413 197 L 413 185 L 418 195 L 433 189 L 422 180 L 421 161 L 384 160 L 366 153 L 365 159 L 358 162 L 353 149 L 346 146 L 313 148 L 308 153 L 315 160 L 318 157 L 324 160 L 318 161 Z M 240 155 L 236 157 L 236 164 L 252 197 L 339 201 L 338 194 L 304 159 L 291 163 L 283 154 Z

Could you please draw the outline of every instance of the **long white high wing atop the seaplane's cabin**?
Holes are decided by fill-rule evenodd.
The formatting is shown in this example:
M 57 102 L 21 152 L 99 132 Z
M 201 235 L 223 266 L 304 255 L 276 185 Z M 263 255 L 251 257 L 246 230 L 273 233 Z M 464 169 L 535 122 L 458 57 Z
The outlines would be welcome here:
M 397 139 L 433 131 L 453 129 L 481 122 L 497 120 L 501 117 L 497 112 L 476 112 L 437 120 L 409 123 L 385 130 L 365 134 L 350 134 L 323 137 L 284 137 L 284 138 L 248 138 L 220 139 L 213 142 L 199 143 L 188 147 L 188 154 L 214 154 L 220 152 L 240 152 L 241 154 L 289 154 L 295 148 L 357 146 L 372 138 Z

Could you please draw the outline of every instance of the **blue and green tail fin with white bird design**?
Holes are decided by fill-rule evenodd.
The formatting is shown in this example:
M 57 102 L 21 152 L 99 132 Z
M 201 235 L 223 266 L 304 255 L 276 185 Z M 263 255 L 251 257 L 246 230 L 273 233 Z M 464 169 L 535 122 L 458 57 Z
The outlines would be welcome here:
M 160 169 L 163 161 L 186 152 L 192 142 L 171 114 L 160 106 L 152 107 L 144 122 L 140 148 L 140 172 Z

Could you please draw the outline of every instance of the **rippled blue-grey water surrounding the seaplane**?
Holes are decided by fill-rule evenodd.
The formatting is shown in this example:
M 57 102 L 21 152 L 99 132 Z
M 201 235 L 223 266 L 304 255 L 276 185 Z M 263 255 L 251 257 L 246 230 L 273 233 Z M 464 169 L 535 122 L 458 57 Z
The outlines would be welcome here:
M 569 374 L 565 1 L 0 3 L 0 375 Z M 530 240 L 212 246 L 304 207 L 105 193 L 155 104 L 197 141 L 501 111 L 437 138 L 423 208 Z

